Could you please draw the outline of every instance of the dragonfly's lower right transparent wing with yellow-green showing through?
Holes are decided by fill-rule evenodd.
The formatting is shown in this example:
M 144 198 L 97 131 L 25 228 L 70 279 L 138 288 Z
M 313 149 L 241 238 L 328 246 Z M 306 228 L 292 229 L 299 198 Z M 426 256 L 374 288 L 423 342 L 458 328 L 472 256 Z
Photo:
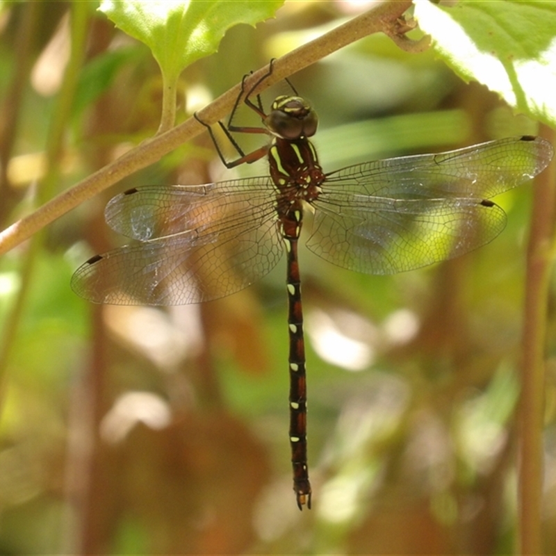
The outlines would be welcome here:
M 352 199 L 357 202 L 358 199 Z M 506 225 L 493 202 L 477 199 L 359 199 L 341 212 L 324 202 L 307 247 L 322 259 L 366 274 L 395 274 L 489 243 Z

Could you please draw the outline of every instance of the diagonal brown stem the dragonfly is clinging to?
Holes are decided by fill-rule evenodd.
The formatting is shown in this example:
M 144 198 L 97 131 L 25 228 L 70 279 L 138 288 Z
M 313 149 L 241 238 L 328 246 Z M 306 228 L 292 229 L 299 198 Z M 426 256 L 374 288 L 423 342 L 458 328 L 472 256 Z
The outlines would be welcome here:
M 273 83 L 277 83 L 284 77 L 302 70 L 347 44 L 378 31 L 383 31 L 391 37 L 397 37 L 395 42 L 406 49 L 417 51 L 422 49 L 423 43 L 414 43 L 407 39 L 402 40 L 396 35 L 399 19 L 410 6 L 411 0 L 390 0 L 380 3 L 368 12 L 351 19 L 320 38 L 289 52 L 286 56 L 275 60 L 272 65 L 272 74 L 257 87 L 254 93 L 270 87 Z M 265 74 L 268 74 L 268 66 L 254 72 L 250 79 L 246 80 L 247 88 Z M 214 124 L 231 111 L 239 93 L 240 85 L 238 84 L 200 111 L 199 117 L 207 124 Z M 79 206 L 79 204 L 97 195 L 113 183 L 160 160 L 162 156 L 203 131 L 205 131 L 204 126 L 199 124 L 195 118 L 189 118 L 189 120 L 170 129 L 170 131 L 142 142 L 113 163 L 91 174 L 70 190 L 54 197 L 26 218 L 22 218 L 22 220 L 2 231 L 0 233 L 0 254 L 13 249 L 47 224 L 54 222 L 60 216 L 71 211 L 72 208 Z

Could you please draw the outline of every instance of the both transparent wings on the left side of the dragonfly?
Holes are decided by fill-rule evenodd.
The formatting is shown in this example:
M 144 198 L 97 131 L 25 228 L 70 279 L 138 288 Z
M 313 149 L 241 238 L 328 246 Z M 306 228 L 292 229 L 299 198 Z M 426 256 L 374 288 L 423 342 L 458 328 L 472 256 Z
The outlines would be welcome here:
M 269 178 L 147 186 L 117 195 L 108 223 L 140 240 L 81 265 L 73 290 L 92 302 L 177 305 L 252 284 L 282 254 Z

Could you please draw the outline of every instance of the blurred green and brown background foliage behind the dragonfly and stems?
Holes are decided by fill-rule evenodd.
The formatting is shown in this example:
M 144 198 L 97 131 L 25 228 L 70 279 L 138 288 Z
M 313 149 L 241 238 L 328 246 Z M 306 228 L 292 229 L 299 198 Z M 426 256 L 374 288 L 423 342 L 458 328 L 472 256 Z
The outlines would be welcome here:
M 49 196 L 151 136 L 160 118 L 161 77 L 149 50 L 96 2 L 85 4 L 82 66 Z M 232 28 L 218 54 L 181 75 L 179 120 L 365 7 L 292 1 L 276 19 Z M 44 199 L 70 10 L 64 1 L 1 6 L 2 227 Z M 407 54 L 384 35 L 291 81 L 320 116 L 325 171 L 537 132 L 430 51 Z M 242 142 L 246 150 L 260 144 Z M 236 172 L 263 175 L 266 164 Z M 9 357 L 0 553 L 511 552 L 531 188 L 496 199 L 509 215 L 496 241 L 431 268 L 358 275 L 301 250 L 313 509 L 300 513 L 289 461 L 284 263 L 202 306 L 91 306 L 69 286 L 88 256 L 122 243 L 102 212 L 115 193 L 237 173 L 222 169 L 205 133 L 51 225 L 32 264 L 29 244 L 1 259 Z M 550 319 L 543 527 L 554 553 L 553 310 Z

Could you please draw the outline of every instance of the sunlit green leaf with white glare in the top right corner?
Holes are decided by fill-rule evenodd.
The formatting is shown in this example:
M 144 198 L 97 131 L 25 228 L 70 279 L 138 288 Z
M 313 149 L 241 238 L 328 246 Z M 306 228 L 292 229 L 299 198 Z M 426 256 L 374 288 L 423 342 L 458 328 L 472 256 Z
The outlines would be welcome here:
M 420 28 L 464 81 L 479 81 L 536 120 L 556 125 L 556 2 L 416 0 Z

